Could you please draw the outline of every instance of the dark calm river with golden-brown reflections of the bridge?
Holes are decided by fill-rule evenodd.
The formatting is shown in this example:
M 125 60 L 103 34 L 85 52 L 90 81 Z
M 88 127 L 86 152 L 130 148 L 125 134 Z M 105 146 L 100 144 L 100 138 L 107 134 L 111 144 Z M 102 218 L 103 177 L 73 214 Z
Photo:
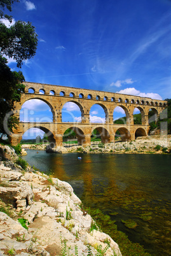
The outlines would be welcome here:
M 171 255 L 170 155 L 27 153 L 31 166 L 70 183 L 83 204 L 116 220 L 131 241 L 151 255 Z

